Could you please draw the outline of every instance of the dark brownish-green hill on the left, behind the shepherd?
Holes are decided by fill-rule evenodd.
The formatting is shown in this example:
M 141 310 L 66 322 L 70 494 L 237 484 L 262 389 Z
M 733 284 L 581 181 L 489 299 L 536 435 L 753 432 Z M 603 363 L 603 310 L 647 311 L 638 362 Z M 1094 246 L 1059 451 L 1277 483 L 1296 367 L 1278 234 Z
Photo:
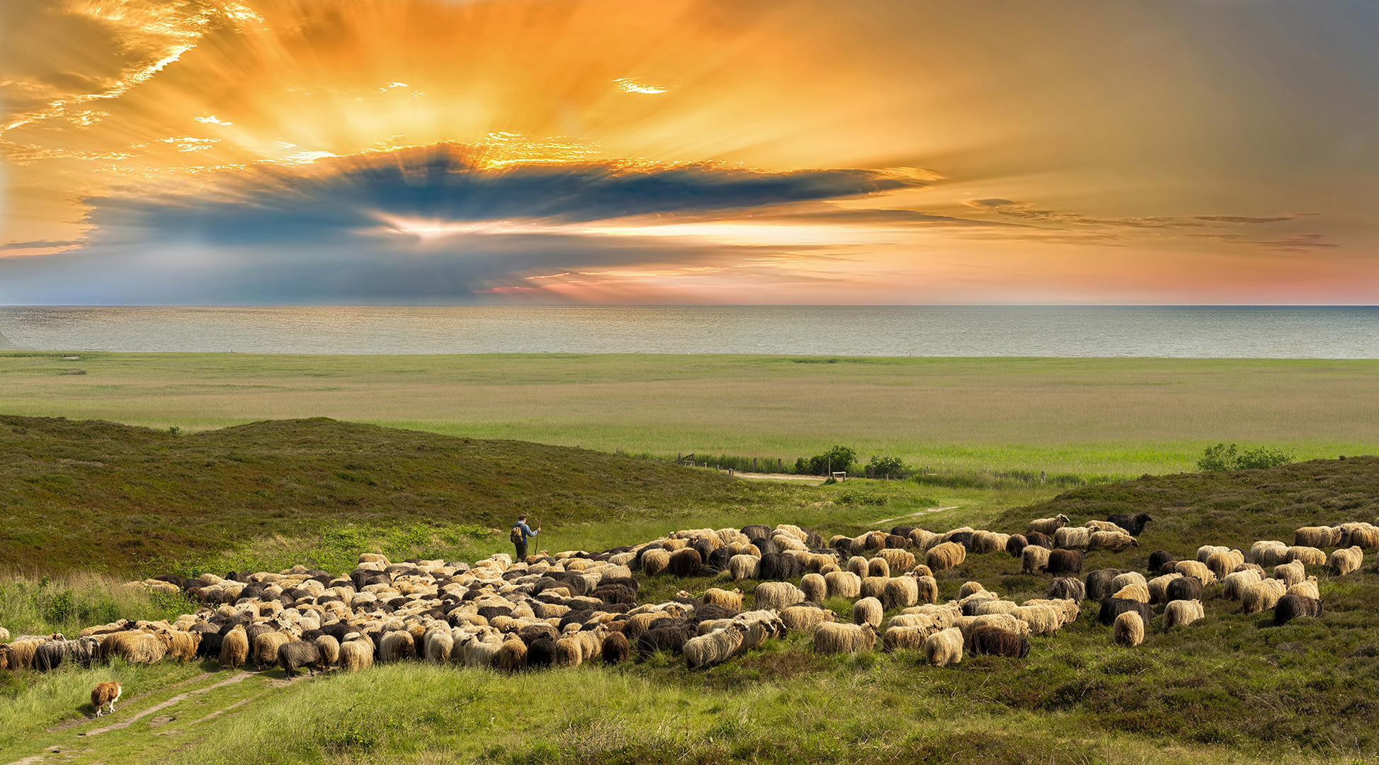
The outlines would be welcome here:
M 782 509 L 801 493 L 630 456 L 324 418 L 179 436 L 0 416 L 0 571 L 137 571 L 346 524 L 492 536 L 523 510 L 549 528 Z

